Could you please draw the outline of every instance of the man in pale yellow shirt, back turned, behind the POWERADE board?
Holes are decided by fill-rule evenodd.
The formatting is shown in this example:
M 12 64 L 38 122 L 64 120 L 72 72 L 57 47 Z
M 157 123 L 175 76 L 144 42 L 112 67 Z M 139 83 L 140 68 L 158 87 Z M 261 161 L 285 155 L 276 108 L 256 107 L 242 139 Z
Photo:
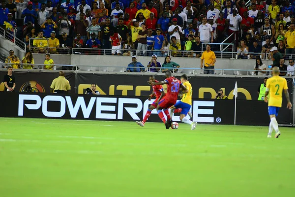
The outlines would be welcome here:
M 50 86 L 50 92 L 51 93 L 70 93 L 71 86 L 69 81 L 64 78 L 64 72 L 59 71 L 59 77 L 55 78 L 52 81 L 52 84 Z

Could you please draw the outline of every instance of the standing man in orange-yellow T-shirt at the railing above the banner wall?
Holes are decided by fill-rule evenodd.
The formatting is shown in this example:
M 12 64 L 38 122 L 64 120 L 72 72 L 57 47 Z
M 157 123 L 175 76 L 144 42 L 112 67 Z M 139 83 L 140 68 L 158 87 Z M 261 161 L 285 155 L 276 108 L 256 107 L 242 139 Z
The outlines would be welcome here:
M 216 63 L 216 56 L 213 51 L 210 50 L 210 44 L 206 44 L 206 51 L 203 52 L 201 57 L 201 68 L 203 68 L 203 62 L 205 61 L 204 74 L 214 74 L 214 65 Z

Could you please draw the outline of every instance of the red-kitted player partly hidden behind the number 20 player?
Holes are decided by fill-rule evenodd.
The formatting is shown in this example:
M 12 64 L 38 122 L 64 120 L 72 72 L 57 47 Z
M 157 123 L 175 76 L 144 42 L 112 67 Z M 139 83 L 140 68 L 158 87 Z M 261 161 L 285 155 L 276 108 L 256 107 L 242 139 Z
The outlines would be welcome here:
M 159 81 L 157 81 L 157 80 L 155 79 L 155 76 L 151 75 L 151 76 L 149 77 L 149 82 L 155 82 L 155 83 L 158 83 Z M 162 85 L 152 85 L 152 93 L 151 93 L 151 95 L 149 95 L 148 100 L 150 100 L 150 99 L 153 98 L 154 96 L 156 97 L 156 99 L 155 99 L 155 101 L 153 101 L 153 103 L 148 107 L 148 111 L 147 111 L 147 113 L 146 113 L 146 115 L 145 115 L 145 117 L 144 117 L 144 120 L 143 120 L 143 121 L 136 121 L 136 124 L 138 124 L 138 125 L 140 125 L 140 126 L 142 126 L 142 127 L 145 126 L 145 123 L 146 123 L 146 121 L 148 120 L 148 117 L 150 116 L 151 111 L 157 107 L 158 102 L 159 102 L 159 98 L 160 98 L 161 96 L 162 96 L 161 98 L 163 98 L 164 95 L 165 95 L 165 92 L 164 92 L 164 90 L 163 90 Z M 166 122 L 165 118 L 162 119 L 162 121 L 165 123 L 165 122 Z

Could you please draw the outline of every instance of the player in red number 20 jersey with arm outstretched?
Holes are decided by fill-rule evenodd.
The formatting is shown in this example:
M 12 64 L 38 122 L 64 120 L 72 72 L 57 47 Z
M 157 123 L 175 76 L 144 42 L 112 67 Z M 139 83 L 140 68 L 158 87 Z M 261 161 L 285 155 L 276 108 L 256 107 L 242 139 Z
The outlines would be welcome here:
M 170 117 L 168 109 L 169 107 L 173 106 L 176 103 L 179 89 L 181 89 L 183 93 L 187 93 L 187 89 L 177 78 L 172 76 L 171 71 L 168 70 L 166 71 L 165 74 L 166 74 L 166 79 L 164 81 L 160 81 L 160 82 L 149 81 L 148 83 L 149 85 L 167 84 L 167 94 L 164 97 L 162 97 L 161 95 L 160 98 L 158 99 L 160 101 L 158 102 L 158 105 L 157 105 L 157 111 L 158 111 L 159 117 L 163 120 L 165 118 L 164 118 L 162 109 L 164 110 L 164 113 L 167 116 L 167 121 L 165 123 L 165 126 L 166 126 L 166 129 L 169 129 L 172 124 L 172 119 Z

